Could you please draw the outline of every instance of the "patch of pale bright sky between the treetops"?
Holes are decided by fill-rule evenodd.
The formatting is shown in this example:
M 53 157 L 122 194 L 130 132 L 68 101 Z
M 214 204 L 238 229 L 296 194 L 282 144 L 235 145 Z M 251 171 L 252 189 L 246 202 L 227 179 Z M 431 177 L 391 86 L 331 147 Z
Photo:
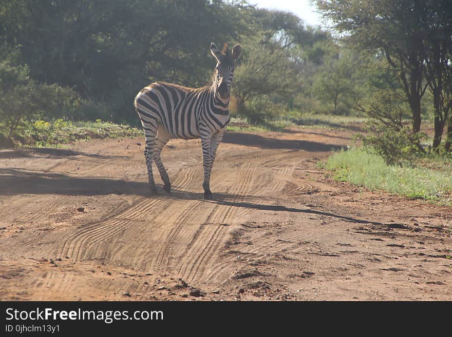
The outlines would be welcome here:
M 258 8 L 278 9 L 292 12 L 310 26 L 322 26 L 321 15 L 316 13 L 315 5 L 309 0 L 249 0 L 248 3 Z

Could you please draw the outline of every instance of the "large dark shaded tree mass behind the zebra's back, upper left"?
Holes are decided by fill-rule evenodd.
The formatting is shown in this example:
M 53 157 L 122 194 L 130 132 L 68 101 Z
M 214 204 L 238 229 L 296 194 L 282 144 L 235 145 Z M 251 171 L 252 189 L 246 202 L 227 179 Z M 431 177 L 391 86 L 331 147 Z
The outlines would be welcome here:
M 210 43 L 248 31 L 240 7 L 220 0 L 12 0 L 0 5 L 0 42 L 20 51 L 17 64 L 27 64 L 36 83 L 74 88 L 88 101 L 77 118 L 89 110 L 92 118 L 130 122 L 143 86 L 205 84 L 214 66 Z

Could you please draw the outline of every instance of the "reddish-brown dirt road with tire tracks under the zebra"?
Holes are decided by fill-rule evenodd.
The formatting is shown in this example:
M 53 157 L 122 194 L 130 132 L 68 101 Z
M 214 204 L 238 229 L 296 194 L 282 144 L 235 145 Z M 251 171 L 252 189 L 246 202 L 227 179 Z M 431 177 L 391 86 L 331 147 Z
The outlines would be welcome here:
M 350 138 L 228 132 L 212 201 L 196 140 L 158 196 L 141 137 L 2 150 L 0 299 L 452 300 L 452 208 L 326 177 Z

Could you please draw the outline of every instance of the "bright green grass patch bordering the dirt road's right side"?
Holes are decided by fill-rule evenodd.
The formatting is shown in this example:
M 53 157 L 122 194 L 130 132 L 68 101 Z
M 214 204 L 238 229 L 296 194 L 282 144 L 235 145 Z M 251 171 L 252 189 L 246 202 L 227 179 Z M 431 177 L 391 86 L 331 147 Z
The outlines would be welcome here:
M 322 165 L 337 181 L 452 206 L 452 163 L 432 161 L 429 167 L 388 166 L 379 155 L 350 149 L 334 153 Z

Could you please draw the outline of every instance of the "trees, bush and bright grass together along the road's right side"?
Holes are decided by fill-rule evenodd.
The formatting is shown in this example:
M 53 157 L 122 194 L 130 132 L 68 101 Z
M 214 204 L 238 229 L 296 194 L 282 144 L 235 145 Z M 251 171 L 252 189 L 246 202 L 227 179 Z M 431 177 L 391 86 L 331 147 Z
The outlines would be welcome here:
M 452 205 L 452 4 L 316 4 L 347 50 L 376 55 L 371 93 L 354 107 L 367 117 L 362 147 L 335 153 L 325 167 L 339 181 Z

